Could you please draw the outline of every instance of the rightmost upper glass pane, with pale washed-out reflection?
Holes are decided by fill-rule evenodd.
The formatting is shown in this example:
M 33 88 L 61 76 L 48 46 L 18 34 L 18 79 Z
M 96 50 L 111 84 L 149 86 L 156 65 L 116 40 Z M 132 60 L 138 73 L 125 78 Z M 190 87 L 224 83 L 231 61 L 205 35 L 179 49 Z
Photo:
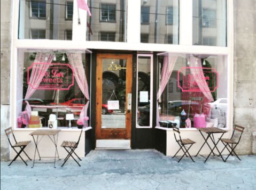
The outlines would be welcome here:
M 193 45 L 227 46 L 226 3 L 193 0 Z

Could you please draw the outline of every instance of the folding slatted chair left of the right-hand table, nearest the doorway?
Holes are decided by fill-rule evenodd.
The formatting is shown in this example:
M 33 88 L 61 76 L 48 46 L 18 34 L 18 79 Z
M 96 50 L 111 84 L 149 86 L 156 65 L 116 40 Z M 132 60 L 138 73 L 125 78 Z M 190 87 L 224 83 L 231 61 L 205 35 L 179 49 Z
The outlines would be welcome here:
M 193 162 L 195 162 L 195 161 L 192 159 L 191 155 L 189 154 L 189 149 L 190 149 L 191 146 L 192 146 L 193 144 L 195 144 L 196 142 L 190 140 L 189 138 L 182 139 L 182 138 L 181 138 L 181 133 L 180 133 L 179 128 L 174 127 L 174 128 L 173 128 L 173 134 L 174 134 L 175 141 L 176 141 L 176 142 L 179 144 L 179 146 L 180 146 L 180 149 L 179 149 L 179 151 L 176 152 L 176 154 L 175 154 L 172 158 L 174 158 L 174 157 L 177 155 L 177 153 L 179 153 L 180 150 L 182 150 L 184 154 L 181 156 L 181 158 L 180 158 L 180 160 L 178 161 L 178 163 L 181 161 L 181 159 L 184 157 L 184 155 L 186 155 L 187 157 L 190 157 L 190 159 L 191 159 Z M 176 135 L 178 135 L 178 134 L 179 134 L 179 137 L 176 137 Z M 187 146 L 188 146 L 188 147 L 187 147 Z

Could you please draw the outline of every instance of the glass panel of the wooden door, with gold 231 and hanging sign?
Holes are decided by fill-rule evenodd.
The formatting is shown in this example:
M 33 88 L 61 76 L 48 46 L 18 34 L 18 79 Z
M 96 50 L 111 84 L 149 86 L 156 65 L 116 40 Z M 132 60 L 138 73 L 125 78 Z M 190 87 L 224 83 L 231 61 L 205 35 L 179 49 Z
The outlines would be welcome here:
M 102 128 L 126 128 L 126 61 L 102 60 Z

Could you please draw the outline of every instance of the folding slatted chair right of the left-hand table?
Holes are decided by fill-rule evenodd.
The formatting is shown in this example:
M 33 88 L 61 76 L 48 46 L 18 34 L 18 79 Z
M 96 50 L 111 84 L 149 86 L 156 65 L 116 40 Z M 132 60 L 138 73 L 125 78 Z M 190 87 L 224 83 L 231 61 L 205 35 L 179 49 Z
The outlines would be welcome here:
M 64 147 L 65 150 L 67 151 L 67 156 L 66 158 L 64 159 L 64 163 L 62 164 L 61 167 L 64 166 L 64 164 L 67 162 L 67 160 L 72 157 L 74 159 L 74 161 L 81 167 L 81 165 L 76 161 L 76 159 L 74 158 L 74 156 L 72 155 L 73 153 L 76 155 L 76 157 L 82 161 L 82 159 L 79 158 L 79 156 L 75 153 L 75 150 L 77 148 L 77 146 L 79 145 L 79 142 L 80 142 L 80 138 L 81 138 L 81 135 L 83 133 L 83 129 L 81 129 L 81 133 L 79 135 L 79 138 L 78 138 L 78 141 L 77 142 L 74 142 L 74 141 L 64 141 L 60 146 L 61 147 Z

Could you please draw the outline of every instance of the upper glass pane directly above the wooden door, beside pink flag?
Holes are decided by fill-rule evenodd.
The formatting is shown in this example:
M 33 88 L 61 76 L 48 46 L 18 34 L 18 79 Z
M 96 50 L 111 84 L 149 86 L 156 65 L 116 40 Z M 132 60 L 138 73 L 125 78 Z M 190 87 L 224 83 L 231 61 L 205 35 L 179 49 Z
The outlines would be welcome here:
M 126 42 L 126 0 L 88 1 L 91 17 L 87 18 L 88 41 Z

